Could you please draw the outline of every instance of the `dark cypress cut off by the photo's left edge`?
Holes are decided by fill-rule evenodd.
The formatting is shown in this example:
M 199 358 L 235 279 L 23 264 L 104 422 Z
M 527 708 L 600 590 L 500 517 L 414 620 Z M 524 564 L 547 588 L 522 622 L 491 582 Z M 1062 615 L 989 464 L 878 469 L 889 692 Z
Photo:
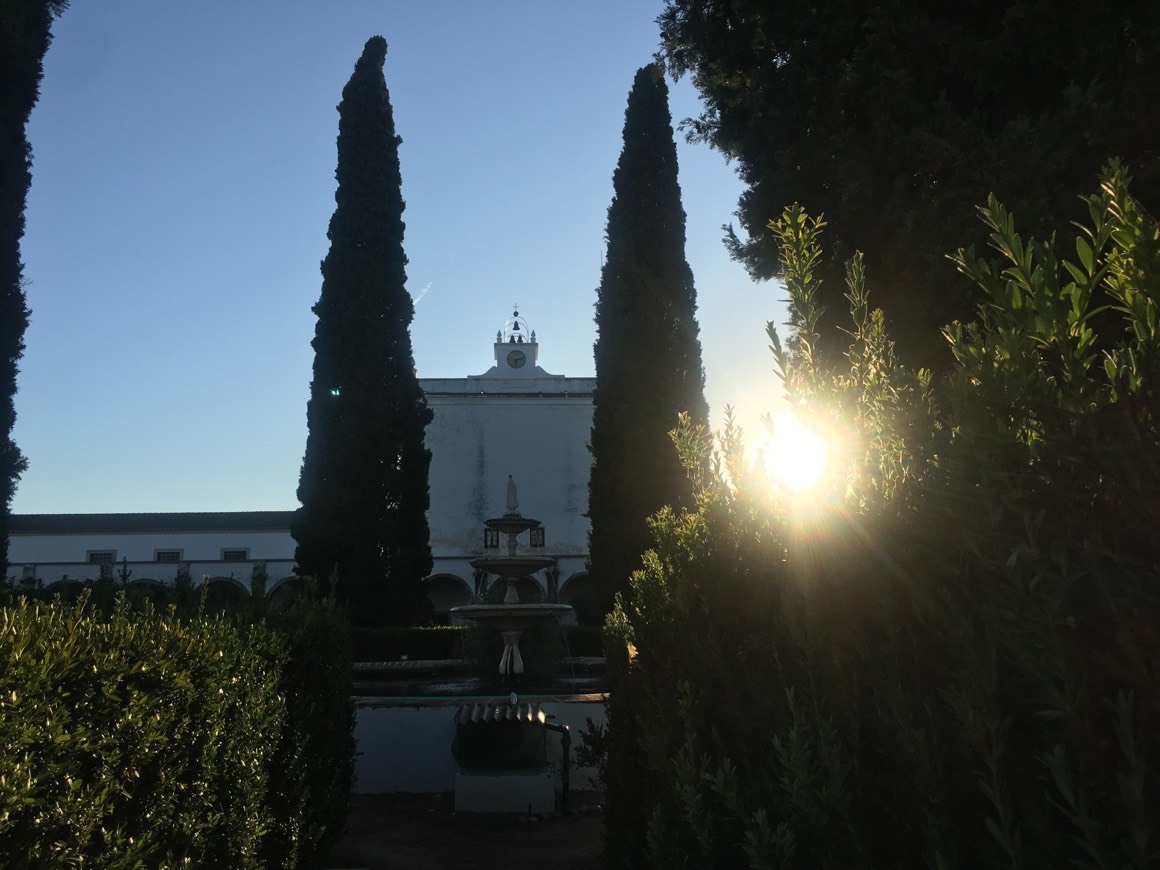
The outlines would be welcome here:
M 52 19 L 66 0 L 0 3 L 0 577 L 8 568 L 8 516 L 16 483 L 28 466 L 12 430 L 16 425 L 16 375 L 24 355 L 28 300 L 20 240 L 24 202 L 32 183 L 32 148 L 26 128 L 41 95 Z

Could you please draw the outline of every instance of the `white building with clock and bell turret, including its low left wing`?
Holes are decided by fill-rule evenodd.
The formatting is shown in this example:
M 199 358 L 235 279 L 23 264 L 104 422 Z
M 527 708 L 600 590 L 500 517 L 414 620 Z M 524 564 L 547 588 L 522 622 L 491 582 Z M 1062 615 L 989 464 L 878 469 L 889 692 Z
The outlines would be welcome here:
M 495 336 L 495 364 L 465 378 L 421 378 L 434 412 L 430 525 L 435 567 L 428 581 L 437 614 L 467 603 L 493 577 L 471 560 L 499 546 L 484 521 L 505 510 L 507 479 L 519 485 L 520 513 L 542 522 L 521 548 L 554 564 L 524 582 L 548 600 L 572 601 L 588 575 L 587 441 L 594 378 L 551 375 L 538 364 L 535 332 L 515 312 Z M 8 581 L 43 583 L 128 571 L 130 582 L 196 582 L 249 589 L 255 570 L 275 594 L 293 579 L 290 510 L 157 514 L 16 514 Z

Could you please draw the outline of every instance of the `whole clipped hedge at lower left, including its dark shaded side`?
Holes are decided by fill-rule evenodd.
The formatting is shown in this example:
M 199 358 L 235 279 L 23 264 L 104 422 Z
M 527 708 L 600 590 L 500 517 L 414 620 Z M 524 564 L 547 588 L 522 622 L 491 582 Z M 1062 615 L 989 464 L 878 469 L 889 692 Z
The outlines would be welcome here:
M 0 608 L 3 865 L 316 865 L 354 778 L 346 619 L 111 587 Z

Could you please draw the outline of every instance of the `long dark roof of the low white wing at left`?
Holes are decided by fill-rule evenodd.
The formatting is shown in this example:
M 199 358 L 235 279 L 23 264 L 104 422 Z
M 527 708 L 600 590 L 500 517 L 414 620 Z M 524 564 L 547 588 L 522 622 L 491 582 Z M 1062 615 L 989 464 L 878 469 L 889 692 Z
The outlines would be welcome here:
M 13 535 L 126 531 L 289 531 L 293 510 L 160 514 L 13 514 Z

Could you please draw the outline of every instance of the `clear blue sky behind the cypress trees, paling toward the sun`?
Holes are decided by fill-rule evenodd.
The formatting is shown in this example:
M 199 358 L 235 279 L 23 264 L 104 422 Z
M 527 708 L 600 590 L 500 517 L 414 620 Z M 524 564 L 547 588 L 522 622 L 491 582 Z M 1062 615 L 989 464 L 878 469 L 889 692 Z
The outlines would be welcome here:
M 13 510 L 297 507 L 335 108 L 377 34 L 420 377 L 486 371 L 515 304 L 545 370 L 590 377 L 624 108 L 661 7 L 74 2 L 28 130 Z M 669 86 L 674 122 L 699 111 Z M 732 405 L 752 436 L 780 403 L 764 324 L 783 292 L 722 244 L 734 168 L 676 138 L 712 422 Z

